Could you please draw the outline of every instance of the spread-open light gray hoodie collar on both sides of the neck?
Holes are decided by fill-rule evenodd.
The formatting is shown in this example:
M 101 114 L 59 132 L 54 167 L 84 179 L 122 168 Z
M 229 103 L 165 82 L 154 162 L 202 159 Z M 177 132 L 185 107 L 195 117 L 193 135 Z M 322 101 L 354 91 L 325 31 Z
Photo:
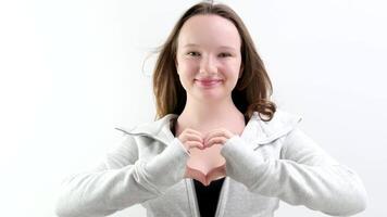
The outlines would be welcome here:
M 178 115 L 176 114 L 167 114 L 153 123 L 141 124 L 132 128 L 117 127 L 115 129 L 132 136 L 150 137 L 168 145 L 175 138 L 171 131 L 171 120 L 177 117 Z M 255 149 L 258 145 L 270 143 L 285 136 L 301 120 L 301 116 L 279 108 L 274 113 L 270 122 L 262 120 L 258 112 L 253 112 L 240 137 Z

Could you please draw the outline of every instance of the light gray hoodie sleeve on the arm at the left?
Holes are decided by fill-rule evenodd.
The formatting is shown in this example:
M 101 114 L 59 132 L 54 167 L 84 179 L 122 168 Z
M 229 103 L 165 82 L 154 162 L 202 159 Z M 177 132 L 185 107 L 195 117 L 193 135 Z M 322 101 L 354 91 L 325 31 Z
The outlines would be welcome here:
M 107 216 L 158 197 L 184 178 L 188 155 L 179 143 L 175 138 L 159 155 L 146 162 L 138 157 L 135 138 L 125 135 L 96 169 L 63 180 L 57 215 Z

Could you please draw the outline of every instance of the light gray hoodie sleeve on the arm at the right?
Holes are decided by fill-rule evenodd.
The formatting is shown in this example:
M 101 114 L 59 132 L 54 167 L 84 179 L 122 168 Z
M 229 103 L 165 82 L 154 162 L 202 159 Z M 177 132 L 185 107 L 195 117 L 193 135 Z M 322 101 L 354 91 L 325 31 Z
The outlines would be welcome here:
M 297 127 L 279 140 L 280 157 L 270 158 L 265 145 L 252 151 L 239 136 L 230 138 L 221 151 L 227 176 L 253 193 L 332 216 L 365 209 L 366 192 L 352 169 L 330 157 Z

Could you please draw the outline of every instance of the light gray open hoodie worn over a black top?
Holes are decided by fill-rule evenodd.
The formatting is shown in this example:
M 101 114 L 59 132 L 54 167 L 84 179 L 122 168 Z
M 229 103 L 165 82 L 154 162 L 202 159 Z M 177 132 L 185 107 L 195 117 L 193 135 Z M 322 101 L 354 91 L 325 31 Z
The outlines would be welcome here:
M 58 216 L 107 216 L 141 204 L 148 217 L 199 217 L 194 181 L 184 178 L 189 153 L 171 132 L 173 118 L 116 128 L 124 132 L 122 142 L 100 166 L 63 180 Z M 227 140 L 216 217 L 274 216 L 279 201 L 333 216 L 365 209 L 358 175 L 302 132 L 301 119 L 277 110 L 263 122 L 254 112 L 242 133 Z

